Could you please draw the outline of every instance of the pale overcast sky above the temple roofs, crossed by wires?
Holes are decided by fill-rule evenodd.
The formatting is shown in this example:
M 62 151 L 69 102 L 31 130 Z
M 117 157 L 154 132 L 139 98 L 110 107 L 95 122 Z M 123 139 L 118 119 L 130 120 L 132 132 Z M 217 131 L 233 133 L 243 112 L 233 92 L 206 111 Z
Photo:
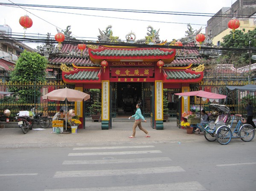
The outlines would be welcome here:
M 222 7 L 230 7 L 235 0 L 0 0 L 0 3 L 21 3 L 32 5 L 72 6 L 105 9 L 135 9 L 146 11 L 176 11 L 215 14 Z M 23 8 L 23 9 L 22 9 Z M 136 40 L 147 36 L 147 27 L 152 26 L 159 31 L 160 40 L 172 41 L 185 36 L 190 23 L 193 30 L 202 27 L 205 32 L 207 20 L 211 17 L 188 16 L 173 14 L 129 13 L 117 11 L 96 11 L 77 9 L 52 9 L 40 7 L 10 7 L 0 6 L 0 25 L 9 25 L 13 33 L 24 33 L 19 18 L 28 15 L 33 25 L 26 34 L 38 34 L 38 37 L 49 32 L 54 37 L 56 27 L 61 31 L 71 26 L 71 36 L 81 40 L 97 40 L 99 29 L 104 31 L 112 26 L 113 36 L 126 41 L 129 32 L 136 34 Z M 31 8 L 31 9 L 29 9 Z M 53 12 L 56 11 L 56 12 Z M 65 13 L 64 13 L 65 12 Z M 56 42 L 57 43 L 57 42 Z M 36 48 L 38 43 L 27 43 Z

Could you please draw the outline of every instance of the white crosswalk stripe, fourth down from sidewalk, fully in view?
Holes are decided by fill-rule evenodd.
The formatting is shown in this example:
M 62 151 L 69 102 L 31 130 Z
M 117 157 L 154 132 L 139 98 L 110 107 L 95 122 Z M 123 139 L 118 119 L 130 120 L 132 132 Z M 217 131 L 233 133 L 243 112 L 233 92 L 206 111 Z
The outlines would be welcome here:
M 157 168 L 131 168 L 116 170 L 93 170 L 93 171 L 57 171 L 54 178 L 65 177 L 101 177 L 101 176 L 121 176 L 125 174 L 155 174 L 169 172 L 183 172 L 180 166 L 166 166 Z

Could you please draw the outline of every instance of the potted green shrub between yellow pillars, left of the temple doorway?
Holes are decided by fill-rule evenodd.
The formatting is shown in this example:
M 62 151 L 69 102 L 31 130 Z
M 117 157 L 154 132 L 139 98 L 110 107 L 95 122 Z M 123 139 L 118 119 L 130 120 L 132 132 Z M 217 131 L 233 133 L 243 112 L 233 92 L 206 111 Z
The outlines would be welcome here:
M 90 93 L 93 97 L 93 103 L 89 107 L 90 117 L 93 121 L 101 120 L 102 103 L 100 99 L 100 89 L 90 89 Z

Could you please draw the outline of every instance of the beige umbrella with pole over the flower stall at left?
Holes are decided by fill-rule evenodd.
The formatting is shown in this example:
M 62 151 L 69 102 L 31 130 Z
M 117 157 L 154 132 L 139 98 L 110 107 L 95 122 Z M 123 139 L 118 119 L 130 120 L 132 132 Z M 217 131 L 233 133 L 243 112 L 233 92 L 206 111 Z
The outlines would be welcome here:
M 90 95 L 70 88 L 56 89 L 43 96 L 43 100 L 66 101 L 66 130 L 67 130 L 67 101 L 81 102 L 90 99 Z

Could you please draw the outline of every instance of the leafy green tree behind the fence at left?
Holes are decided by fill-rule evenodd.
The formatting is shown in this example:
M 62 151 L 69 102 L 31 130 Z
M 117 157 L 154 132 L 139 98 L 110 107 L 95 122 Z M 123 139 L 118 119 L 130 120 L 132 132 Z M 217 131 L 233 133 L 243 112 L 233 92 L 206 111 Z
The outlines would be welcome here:
M 41 96 L 38 83 L 46 80 L 47 62 L 45 57 L 35 52 L 25 50 L 20 54 L 14 70 L 10 73 L 10 91 L 18 96 L 18 103 L 35 103 L 37 97 Z

